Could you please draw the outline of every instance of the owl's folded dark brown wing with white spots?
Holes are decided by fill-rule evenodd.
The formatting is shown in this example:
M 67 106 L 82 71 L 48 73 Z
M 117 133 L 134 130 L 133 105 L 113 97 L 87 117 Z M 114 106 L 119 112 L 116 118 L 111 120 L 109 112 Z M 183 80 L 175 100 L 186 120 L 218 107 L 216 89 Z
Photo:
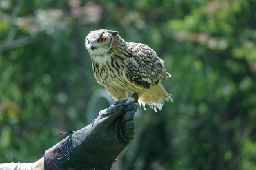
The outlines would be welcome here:
M 157 57 L 153 49 L 144 44 L 128 43 L 132 56 L 127 67 L 123 69 L 125 78 L 135 87 L 150 88 L 166 80 L 164 61 Z M 168 74 L 169 75 L 169 74 Z

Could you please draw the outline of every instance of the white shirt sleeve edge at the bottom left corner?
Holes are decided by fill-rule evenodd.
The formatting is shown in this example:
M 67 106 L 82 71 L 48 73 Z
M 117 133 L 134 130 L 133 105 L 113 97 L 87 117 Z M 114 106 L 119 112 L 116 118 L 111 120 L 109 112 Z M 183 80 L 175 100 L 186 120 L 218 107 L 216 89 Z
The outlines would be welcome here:
M 32 170 L 32 163 L 0 163 L 0 170 Z

